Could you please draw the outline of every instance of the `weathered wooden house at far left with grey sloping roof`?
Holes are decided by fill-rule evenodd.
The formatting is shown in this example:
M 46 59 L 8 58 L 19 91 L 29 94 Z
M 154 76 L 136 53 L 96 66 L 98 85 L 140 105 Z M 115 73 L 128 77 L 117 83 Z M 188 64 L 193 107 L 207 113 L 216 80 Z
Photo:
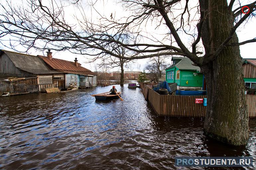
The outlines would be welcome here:
M 1 50 L 0 75 L 1 77 L 5 77 L 5 79 L 7 79 L 8 77 L 23 77 L 26 79 L 26 81 L 23 80 L 23 82 L 18 84 L 24 84 L 27 82 L 30 83 L 28 85 L 35 85 L 35 81 L 27 80 L 28 77 L 34 79 L 36 78 L 36 85 L 38 86 L 38 89 L 34 91 L 42 91 L 42 89 L 46 87 L 54 87 L 54 78 L 63 77 L 64 73 L 60 71 L 51 70 L 40 57 L 7 50 Z M 16 81 L 18 81 L 18 79 Z M 3 82 L 2 80 L 2 84 L 5 83 L 7 83 L 7 81 Z M 64 86 L 61 86 L 60 84 L 56 87 L 64 89 Z M 33 88 L 35 87 L 33 86 Z M 17 91 L 19 90 L 16 90 L 16 92 Z M 21 89 L 21 91 L 24 90 Z

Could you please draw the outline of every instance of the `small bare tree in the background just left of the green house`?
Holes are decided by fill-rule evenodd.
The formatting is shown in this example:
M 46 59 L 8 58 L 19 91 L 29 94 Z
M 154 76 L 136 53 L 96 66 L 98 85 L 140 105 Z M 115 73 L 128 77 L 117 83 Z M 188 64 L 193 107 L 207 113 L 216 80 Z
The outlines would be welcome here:
M 151 81 L 159 83 L 163 72 L 168 66 L 167 59 L 169 56 L 157 56 L 149 59 L 148 64 L 145 67 L 145 70 L 148 71 Z

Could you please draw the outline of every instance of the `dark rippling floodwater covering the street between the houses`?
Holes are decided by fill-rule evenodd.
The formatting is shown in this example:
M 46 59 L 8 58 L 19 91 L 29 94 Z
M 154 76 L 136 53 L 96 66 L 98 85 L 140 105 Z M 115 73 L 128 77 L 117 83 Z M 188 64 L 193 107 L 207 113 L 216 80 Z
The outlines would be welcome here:
M 127 86 L 117 85 L 124 101 L 90 96 L 111 86 L 0 97 L 0 169 L 202 169 L 177 168 L 175 156 L 254 156 L 256 166 L 256 119 L 248 144 L 231 147 L 206 138 L 203 119 L 158 117 Z

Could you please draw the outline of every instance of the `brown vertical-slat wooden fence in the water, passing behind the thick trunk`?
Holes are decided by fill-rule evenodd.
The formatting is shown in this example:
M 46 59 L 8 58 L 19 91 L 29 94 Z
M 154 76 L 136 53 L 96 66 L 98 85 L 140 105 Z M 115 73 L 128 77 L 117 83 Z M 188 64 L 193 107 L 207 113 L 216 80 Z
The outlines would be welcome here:
M 143 95 L 159 116 L 204 117 L 206 107 L 195 103 L 195 98 L 207 96 L 160 95 L 151 88 L 144 88 Z M 246 95 L 250 118 L 256 117 L 256 95 Z

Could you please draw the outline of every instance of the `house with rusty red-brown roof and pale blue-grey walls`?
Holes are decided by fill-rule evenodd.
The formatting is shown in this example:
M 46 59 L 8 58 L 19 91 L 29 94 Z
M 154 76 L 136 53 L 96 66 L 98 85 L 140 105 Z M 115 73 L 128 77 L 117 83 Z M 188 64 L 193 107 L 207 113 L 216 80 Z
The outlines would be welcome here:
M 75 83 L 82 88 L 93 87 L 97 85 L 97 74 L 81 66 L 75 58 L 74 62 L 52 58 L 52 52 L 49 50 L 46 56 L 40 56 L 45 63 L 56 71 L 64 72 L 65 87 L 67 88 L 71 83 Z M 55 77 L 54 80 L 62 79 Z

